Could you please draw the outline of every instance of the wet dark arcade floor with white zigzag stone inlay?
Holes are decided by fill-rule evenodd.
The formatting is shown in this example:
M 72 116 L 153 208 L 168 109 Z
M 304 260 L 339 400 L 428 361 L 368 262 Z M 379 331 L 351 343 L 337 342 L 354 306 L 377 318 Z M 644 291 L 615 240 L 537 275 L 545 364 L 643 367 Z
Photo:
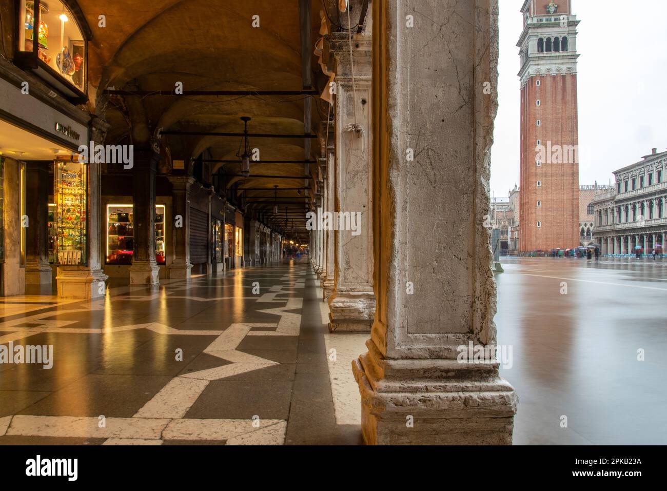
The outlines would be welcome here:
M 0 444 L 360 444 L 320 298 L 306 258 L 25 314 L 3 299 L 0 344 L 52 345 L 53 368 L 0 365 Z

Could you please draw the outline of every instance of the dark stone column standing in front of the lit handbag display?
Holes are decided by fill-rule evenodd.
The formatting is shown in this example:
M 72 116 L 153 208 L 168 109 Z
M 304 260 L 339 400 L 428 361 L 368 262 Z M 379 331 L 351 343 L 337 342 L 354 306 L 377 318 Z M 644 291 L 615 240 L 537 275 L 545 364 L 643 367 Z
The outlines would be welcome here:
M 159 153 L 135 149 L 134 155 L 134 254 L 129 284 L 153 286 L 159 284 L 159 266 L 155 261 L 155 174 Z

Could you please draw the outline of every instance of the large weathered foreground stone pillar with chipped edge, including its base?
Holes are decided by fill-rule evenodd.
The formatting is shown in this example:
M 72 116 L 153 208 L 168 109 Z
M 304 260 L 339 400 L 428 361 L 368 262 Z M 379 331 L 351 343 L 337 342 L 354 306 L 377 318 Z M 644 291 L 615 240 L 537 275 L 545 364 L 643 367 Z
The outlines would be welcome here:
M 493 356 L 468 352 L 496 344 L 484 217 L 498 0 L 422 0 L 418 15 L 412 0 L 373 9 L 378 308 L 368 353 L 353 362 L 364 440 L 511 444 L 516 393 Z

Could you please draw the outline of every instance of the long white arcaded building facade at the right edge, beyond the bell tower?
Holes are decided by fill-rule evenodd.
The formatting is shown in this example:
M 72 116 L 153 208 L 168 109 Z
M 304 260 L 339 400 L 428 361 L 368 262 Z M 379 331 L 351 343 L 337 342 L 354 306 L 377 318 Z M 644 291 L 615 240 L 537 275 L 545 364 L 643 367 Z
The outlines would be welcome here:
M 651 253 L 667 233 L 667 151 L 614 171 L 616 184 L 593 201 L 595 241 L 602 254 Z

